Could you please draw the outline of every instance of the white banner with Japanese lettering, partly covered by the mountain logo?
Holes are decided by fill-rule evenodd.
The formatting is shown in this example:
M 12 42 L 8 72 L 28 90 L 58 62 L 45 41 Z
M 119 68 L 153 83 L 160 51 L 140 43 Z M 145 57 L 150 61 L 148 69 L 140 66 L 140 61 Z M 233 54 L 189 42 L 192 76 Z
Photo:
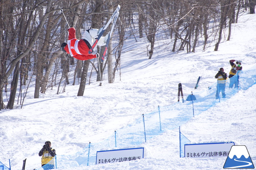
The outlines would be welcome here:
M 235 143 L 198 143 L 185 144 L 184 157 L 190 158 L 220 158 L 227 157 Z

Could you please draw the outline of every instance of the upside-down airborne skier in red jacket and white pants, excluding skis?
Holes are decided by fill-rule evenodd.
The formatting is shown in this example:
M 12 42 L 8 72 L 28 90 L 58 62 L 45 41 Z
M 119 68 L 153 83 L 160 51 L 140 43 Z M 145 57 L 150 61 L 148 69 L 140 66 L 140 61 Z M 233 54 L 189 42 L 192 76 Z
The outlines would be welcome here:
M 84 33 L 84 39 L 78 40 L 75 36 L 75 28 L 68 29 L 68 41 L 61 44 L 61 50 L 67 52 L 72 57 L 79 60 L 88 60 L 99 57 L 99 54 L 89 54 L 88 51 L 92 48 L 93 43 L 98 37 L 99 29 L 88 29 Z M 109 34 L 106 37 L 100 37 L 97 45 L 106 45 Z

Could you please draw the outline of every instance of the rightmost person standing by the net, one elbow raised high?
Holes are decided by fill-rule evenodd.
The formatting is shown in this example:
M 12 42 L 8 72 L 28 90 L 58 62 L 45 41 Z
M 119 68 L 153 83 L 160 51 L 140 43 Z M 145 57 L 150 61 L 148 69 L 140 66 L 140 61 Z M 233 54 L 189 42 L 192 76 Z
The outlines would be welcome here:
M 235 62 L 235 63 L 234 63 L 234 62 Z M 238 60 L 231 59 L 231 60 L 229 61 L 229 63 L 230 63 L 230 65 L 231 65 L 231 67 L 232 67 L 231 70 L 230 70 L 230 72 L 229 72 L 229 76 L 228 76 L 228 78 L 230 78 L 229 88 L 233 88 L 234 85 L 235 85 L 235 88 L 237 88 L 237 87 L 238 87 L 238 78 L 239 78 L 239 76 L 237 75 L 236 78 L 233 77 L 233 76 L 236 75 L 236 73 L 237 73 L 238 70 L 242 70 L 242 66 L 241 66 L 242 61 L 240 61 L 240 60 L 238 61 Z M 233 78 L 231 78 L 231 77 L 233 77 Z

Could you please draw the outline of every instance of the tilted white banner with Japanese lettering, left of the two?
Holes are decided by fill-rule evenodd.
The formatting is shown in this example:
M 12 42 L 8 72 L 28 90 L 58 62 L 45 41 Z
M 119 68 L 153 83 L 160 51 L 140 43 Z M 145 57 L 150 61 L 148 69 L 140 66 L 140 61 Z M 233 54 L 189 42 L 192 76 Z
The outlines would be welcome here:
M 97 151 L 96 164 L 135 161 L 144 158 L 144 148 Z

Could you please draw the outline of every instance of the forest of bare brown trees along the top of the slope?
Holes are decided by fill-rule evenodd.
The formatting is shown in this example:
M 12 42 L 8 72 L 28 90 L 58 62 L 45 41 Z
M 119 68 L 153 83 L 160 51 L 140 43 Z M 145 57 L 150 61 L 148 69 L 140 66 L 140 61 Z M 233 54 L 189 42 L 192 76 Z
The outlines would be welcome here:
M 115 46 L 109 44 L 105 62 L 79 61 L 60 50 L 68 29 L 61 9 L 81 39 L 80 30 L 101 28 L 118 4 L 121 10 L 113 36 L 119 41 Z M 79 96 L 85 95 L 89 68 L 97 73 L 97 81 L 107 68 L 108 83 L 113 83 L 123 42 L 129 36 L 146 38 L 149 59 L 154 56 L 156 35 L 162 30 L 172 52 L 195 52 L 198 43 L 205 50 L 209 37 L 215 40 L 217 51 L 221 41 L 230 39 L 232 23 L 238 21 L 239 14 L 254 14 L 255 5 L 256 0 L 1 0 L 0 109 L 12 109 L 14 102 L 22 105 L 31 83 L 34 98 L 53 86 L 58 87 L 57 94 L 65 92 L 71 65 L 75 67 L 74 82 L 79 79 Z M 223 38 L 225 30 L 228 35 Z

